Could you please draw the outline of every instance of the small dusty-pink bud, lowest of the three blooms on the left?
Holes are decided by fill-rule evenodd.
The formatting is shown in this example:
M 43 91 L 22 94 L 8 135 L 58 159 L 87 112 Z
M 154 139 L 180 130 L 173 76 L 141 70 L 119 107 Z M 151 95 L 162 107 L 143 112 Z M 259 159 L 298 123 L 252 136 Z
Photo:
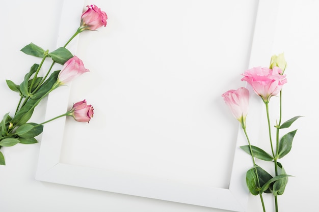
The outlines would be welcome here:
M 77 102 L 73 105 L 72 109 L 67 113 L 69 116 L 73 116 L 73 118 L 77 122 L 90 122 L 93 117 L 93 107 L 92 105 L 87 105 L 87 101 L 83 100 L 81 102 Z

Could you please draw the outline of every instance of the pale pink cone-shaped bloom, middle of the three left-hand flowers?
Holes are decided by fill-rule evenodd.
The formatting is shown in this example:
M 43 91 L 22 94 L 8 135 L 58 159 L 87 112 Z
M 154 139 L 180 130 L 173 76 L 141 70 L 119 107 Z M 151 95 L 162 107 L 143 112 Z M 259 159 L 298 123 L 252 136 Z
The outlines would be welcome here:
M 89 71 L 90 70 L 84 67 L 81 59 L 79 59 L 77 56 L 73 56 L 72 58 L 68 59 L 67 62 L 65 62 L 59 73 L 59 85 L 65 84 L 73 80 L 75 77 Z

